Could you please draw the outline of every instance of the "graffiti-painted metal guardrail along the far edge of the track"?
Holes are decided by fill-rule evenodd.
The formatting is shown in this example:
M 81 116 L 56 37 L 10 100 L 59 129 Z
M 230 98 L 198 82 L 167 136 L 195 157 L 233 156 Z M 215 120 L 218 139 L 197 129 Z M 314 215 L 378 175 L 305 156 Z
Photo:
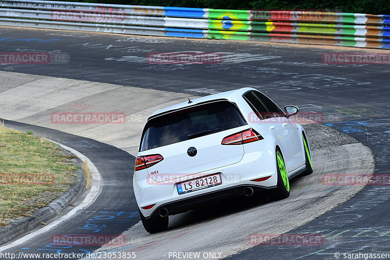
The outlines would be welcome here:
M 0 0 L 0 25 L 390 49 L 390 16 Z

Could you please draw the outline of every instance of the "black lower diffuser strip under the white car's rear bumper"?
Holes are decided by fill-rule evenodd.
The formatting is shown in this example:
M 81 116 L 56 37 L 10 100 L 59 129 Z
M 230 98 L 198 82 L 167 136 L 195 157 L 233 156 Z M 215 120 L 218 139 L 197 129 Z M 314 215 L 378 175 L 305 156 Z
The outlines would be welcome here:
M 175 200 L 172 202 L 161 204 L 156 209 L 154 209 L 153 213 L 149 217 L 146 217 L 146 219 L 157 217 L 160 208 L 167 209 L 169 215 L 175 215 L 175 214 L 186 212 L 190 209 L 207 205 L 207 202 L 211 202 L 211 201 L 215 202 L 218 200 L 227 200 L 227 199 L 245 196 L 244 195 L 245 187 L 251 187 L 254 190 L 254 193 L 256 193 L 256 192 L 275 188 L 276 186 L 264 187 L 264 186 L 243 184 L 243 185 L 237 185 L 230 188 L 225 188 L 221 190 L 195 195 L 181 200 Z

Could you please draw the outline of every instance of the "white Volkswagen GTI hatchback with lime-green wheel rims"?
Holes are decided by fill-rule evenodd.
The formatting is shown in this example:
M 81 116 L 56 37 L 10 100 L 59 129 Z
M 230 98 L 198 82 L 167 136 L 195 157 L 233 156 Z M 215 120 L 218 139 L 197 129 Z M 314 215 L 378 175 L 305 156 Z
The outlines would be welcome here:
M 300 124 L 253 88 L 188 100 L 156 111 L 146 122 L 133 178 L 146 231 L 168 227 L 169 215 L 210 200 L 269 190 L 290 195 L 289 179 L 312 173 Z

